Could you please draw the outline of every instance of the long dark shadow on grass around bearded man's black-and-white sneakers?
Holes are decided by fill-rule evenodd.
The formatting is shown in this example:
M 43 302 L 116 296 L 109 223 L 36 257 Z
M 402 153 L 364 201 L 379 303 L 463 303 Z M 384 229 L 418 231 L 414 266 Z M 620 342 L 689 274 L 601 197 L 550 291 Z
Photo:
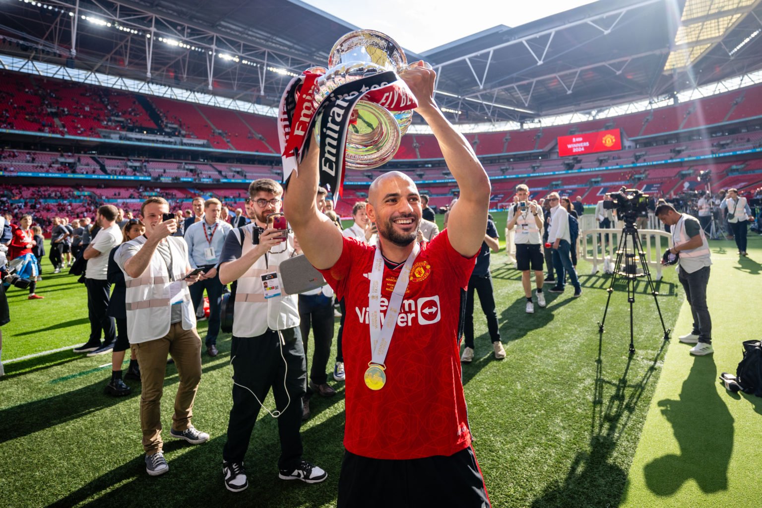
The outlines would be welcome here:
M 302 433 L 306 460 L 318 462 L 328 472 L 328 479 L 321 484 L 277 478 L 277 422 L 263 417 L 255 426 L 246 457 L 249 487 L 240 493 L 229 492 L 223 484 L 223 434 L 198 446 L 175 439 L 166 441 L 169 471 L 159 477 L 146 474 L 144 455 L 140 454 L 47 506 L 322 506 L 336 499 L 341 455 L 335 450 L 341 447 L 343 435 L 344 413 Z M 139 443 L 133 444 L 139 448 Z M 325 452 L 335 456 L 315 459 L 325 457 Z M 119 487 L 114 488 L 117 484 Z

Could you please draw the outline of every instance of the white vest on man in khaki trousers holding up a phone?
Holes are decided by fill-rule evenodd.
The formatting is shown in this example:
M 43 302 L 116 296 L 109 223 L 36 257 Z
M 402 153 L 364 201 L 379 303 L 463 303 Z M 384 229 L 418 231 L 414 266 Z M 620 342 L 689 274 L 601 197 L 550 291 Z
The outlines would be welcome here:
M 191 303 L 191 292 L 183 280 L 188 265 L 187 244 L 180 237 L 166 238 L 171 252 L 173 277 L 170 278 L 167 264 L 158 251 L 154 252 L 151 263 L 136 279 L 126 273 L 124 283 L 126 289 L 127 334 L 130 343 L 146 342 L 164 337 L 169 333 L 171 321 L 171 280 L 179 281 L 182 299 L 183 330 L 196 327 L 196 313 Z M 146 244 L 146 237 L 140 236 L 126 244 Z

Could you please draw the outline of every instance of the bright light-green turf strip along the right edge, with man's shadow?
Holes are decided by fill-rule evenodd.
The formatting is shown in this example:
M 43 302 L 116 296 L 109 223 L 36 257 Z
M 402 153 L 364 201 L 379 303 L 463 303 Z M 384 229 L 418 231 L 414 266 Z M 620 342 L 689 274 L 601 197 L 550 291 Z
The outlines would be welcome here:
M 754 235 L 756 237 L 756 235 Z M 713 355 L 693 357 L 677 337 L 690 332 L 683 305 L 664 357 L 654 398 L 632 459 L 620 506 L 759 506 L 762 499 L 762 398 L 732 395 L 719 383 L 741 360 L 741 342 L 758 339 L 760 238 L 749 238 L 749 258 L 732 241 L 713 241 L 707 304 Z

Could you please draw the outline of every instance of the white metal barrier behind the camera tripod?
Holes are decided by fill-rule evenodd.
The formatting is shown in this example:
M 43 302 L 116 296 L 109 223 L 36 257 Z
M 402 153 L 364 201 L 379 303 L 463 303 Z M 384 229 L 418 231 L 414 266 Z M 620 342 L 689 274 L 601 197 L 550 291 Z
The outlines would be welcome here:
M 664 254 L 661 248 L 661 238 L 667 238 L 668 248 L 672 248 L 672 235 L 658 229 L 642 229 L 639 233 L 645 262 L 649 267 L 656 270 L 654 279 L 661 280 L 661 256 Z M 578 258 L 587 260 L 593 265 L 591 273 L 597 273 L 598 265 L 604 265 L 604 271 L 608 271 L 606 268 L 613 270 L 614 264 L 616 264 L 616 249 L 619 248 L 621 236 L 621 228 L 595 228 L 580 231 L 577 241 L 577 248 L 580 253 Z M 626 247 L 632 249 L 632 246 Z M 609 267 L 606 267 L 607 262 L 610 264 Z

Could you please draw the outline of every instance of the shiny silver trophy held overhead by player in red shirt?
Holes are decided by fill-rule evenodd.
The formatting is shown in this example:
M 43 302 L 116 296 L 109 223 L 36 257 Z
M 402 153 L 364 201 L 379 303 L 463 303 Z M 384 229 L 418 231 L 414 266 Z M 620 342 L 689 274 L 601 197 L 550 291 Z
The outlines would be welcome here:
M 424 64 L 427 69 L 431 65 Z M 375 30 L 355 30 L 341 37 L 328 56 L 328 69 L 317 80 L 315 104 L 320 104 L 331 91 L 347 82 L 381 72 L 397 74 L 409 68 L 402 48 L 391 37 Z M 354 107 L 357 123 L 347 133 L 344 152 L 349 169 L 373 169 L 394 157 L 402 136 L 410 126 L 413 112 L 389 111 L 369 101 L 359 101 Z M 318 129 L 315 136 L 319 138 Z

